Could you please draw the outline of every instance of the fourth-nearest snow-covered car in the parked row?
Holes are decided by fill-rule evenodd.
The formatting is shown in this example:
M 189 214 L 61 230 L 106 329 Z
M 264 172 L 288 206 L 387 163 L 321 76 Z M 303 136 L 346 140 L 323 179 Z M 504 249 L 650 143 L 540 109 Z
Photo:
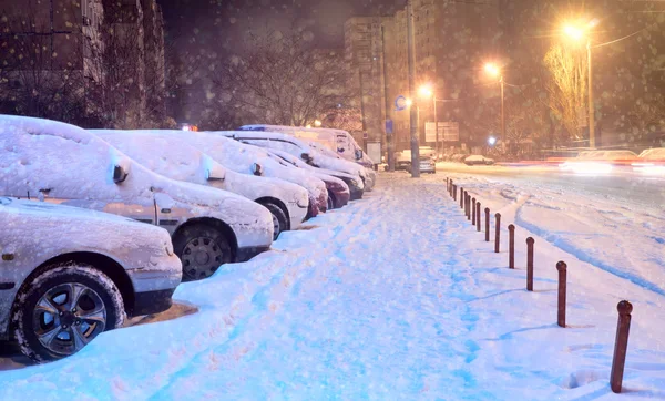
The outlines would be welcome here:
M 160 135 L 184 137 L 190 145 L 236 173 L 280 178 L 304 187 L 309 196 L 306 218 L 327 209 L 328 191 L 323 181 L 308 172 L 282 165 L 264 148 L 205 132 L 160 131 Z

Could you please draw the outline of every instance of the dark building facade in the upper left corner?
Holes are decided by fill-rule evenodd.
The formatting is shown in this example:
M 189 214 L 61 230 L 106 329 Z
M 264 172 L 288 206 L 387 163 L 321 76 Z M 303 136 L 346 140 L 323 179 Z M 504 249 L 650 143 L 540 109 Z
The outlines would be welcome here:
M 0 0 L 3 112 L 133 127 L 164 115 L 164 83 L 156 0 Z

